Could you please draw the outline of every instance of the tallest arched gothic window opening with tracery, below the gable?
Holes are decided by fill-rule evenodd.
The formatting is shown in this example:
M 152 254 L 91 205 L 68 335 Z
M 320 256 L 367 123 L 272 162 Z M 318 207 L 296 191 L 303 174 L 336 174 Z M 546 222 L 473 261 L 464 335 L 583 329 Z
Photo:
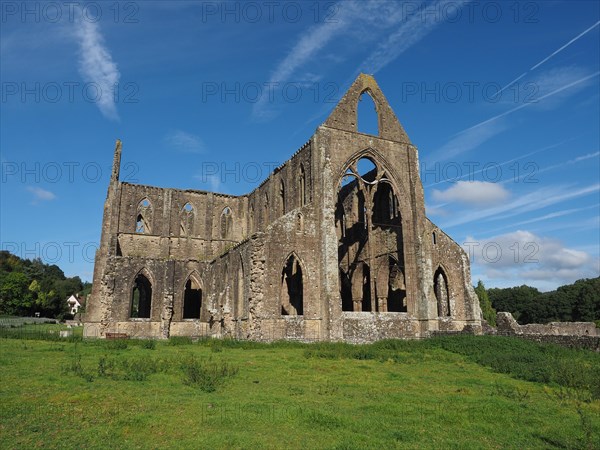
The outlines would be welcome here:
M 369 156 L 348 164 L 335 210 L 342 311 L 407 312 L 402 217 L 392 181 Z

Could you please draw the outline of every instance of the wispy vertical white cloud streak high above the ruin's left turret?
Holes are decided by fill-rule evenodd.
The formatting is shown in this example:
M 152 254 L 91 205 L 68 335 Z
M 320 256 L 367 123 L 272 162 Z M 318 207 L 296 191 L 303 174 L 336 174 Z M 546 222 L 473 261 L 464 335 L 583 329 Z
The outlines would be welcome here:
M 118 120 L 114 89 L 121 74 L 104 44 L 98 22 L 85 20 L 79 11 L 75 20 L 75 36 L 79 43 L 79 72 L 87 83 L 98 89 L 96 104 L 104 117 Z

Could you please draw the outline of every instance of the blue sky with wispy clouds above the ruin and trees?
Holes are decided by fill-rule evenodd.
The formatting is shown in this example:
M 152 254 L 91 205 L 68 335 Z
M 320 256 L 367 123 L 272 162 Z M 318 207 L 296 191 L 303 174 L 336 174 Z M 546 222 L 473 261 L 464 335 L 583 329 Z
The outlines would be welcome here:
M 125 181 L 247 193 L 362 71 L 474 282 L 599 275 L 598 2 L 0 5 L 2 249 L 91 280 L 117 138 Z

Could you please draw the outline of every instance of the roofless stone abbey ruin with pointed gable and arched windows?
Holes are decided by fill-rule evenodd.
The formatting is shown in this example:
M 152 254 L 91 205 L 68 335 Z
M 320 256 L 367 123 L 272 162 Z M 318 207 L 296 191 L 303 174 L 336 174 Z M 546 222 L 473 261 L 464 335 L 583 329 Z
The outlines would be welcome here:
M 362 95 L 377 136 L 357 131 Z M 467 255 L 425 216 L 417 149 L 369 75 L 247 195 L 121 182 L 120 159 L 117 142 L 87 337 L 481 332 Z

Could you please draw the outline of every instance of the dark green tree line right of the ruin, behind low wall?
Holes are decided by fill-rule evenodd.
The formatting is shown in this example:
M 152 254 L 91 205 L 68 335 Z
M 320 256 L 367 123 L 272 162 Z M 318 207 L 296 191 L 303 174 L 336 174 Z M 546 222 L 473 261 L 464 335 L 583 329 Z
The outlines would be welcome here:
M 496 311 L 512 313 L 520 324 L 600 321 L 600 277 L 578 280 L 555 291 L 530 286 L 487 290 Z

